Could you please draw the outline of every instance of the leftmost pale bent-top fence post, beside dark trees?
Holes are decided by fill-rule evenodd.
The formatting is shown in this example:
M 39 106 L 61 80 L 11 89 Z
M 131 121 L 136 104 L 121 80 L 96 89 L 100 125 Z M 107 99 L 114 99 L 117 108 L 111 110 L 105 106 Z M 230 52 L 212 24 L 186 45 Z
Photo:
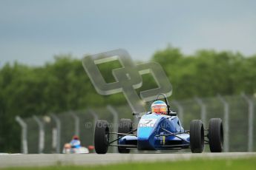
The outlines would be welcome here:
M 27 123 L 25 123 L 19 116 L 16 116 L 15 119 L 22 127 L 22 154 L 27 154 Z

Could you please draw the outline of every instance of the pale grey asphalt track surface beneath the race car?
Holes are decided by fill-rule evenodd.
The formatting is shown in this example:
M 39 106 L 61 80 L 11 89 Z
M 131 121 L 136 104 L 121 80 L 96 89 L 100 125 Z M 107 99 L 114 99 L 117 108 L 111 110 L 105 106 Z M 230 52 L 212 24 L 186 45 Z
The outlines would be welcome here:
M 110 163 L 159 162 L 194 158 L 256 157 L 256 152 L 166 154 L 0 154 L 0 168 L 15 166 L 87 166 Z

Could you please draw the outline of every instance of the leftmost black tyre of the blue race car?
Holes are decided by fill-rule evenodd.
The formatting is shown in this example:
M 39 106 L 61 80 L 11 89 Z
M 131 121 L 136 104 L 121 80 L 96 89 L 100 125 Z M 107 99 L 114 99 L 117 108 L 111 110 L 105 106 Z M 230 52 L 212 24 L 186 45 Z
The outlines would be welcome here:
M 94 147 L 97 154 L 108 152 L 109 129 L 106 120 L 97 120 L 94 133 Z

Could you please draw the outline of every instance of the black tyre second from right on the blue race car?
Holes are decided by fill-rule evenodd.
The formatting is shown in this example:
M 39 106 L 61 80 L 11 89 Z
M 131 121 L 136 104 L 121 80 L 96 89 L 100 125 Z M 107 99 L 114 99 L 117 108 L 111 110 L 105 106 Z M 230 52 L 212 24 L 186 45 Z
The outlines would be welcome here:
M 204 129 L 201 120 L 190 123 L 190 149 L 192 153 L 202 153 L 204 149 Z

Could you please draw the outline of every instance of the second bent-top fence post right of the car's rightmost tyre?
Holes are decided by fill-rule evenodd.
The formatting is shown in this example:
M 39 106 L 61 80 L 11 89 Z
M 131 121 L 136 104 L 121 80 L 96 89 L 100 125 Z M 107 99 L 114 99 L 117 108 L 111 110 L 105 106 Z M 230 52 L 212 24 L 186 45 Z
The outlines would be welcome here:
M 252 99 L 250 99 L 247 95 L 242 94 L 242 97 L 246 100 L 249 106 L 248 112 L 248 152 L 253 151 L 253 114 L 255 112 L 254 104 Z

